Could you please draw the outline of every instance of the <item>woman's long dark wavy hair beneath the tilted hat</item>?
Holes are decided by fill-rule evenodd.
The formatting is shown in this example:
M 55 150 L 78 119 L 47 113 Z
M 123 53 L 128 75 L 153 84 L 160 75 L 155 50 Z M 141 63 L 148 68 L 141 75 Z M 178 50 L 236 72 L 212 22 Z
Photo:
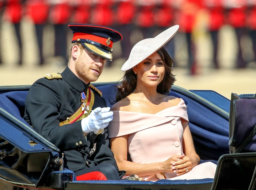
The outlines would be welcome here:
M 158 84 L 156 91 L 160 94 L 169 94 L 173 83 L 176 81 L 175 75 L 172 74 L 173 71 L 173 59 L 164 49 L 164 47 L 160 48 L 156 51 L 162 60 L 164 60 L 165 72 L 163 80 Z M 120 101 L 124 99 L 128 95 L 130 95 L 136 88 L 137 85 L 137 76 L 133 72 L 132 68 L 127 70 L 124 73 L 121 82 L 117 83 L 117 93 L 115 96 L 115 101 Z

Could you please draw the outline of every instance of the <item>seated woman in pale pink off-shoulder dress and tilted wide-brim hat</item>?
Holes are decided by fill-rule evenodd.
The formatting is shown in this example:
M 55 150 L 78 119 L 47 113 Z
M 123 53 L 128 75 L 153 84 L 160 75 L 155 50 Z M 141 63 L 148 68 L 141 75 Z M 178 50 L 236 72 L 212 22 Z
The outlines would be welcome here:
M 145 181 L 214 178 L 216 165 L 200 164 L 183 99 L 168 96 L 173 59 L 163 48 L 175 25 L 138 42 L 124 63 L 109 123 L 111 150 L 120 170 Z M 130 156 L 130 160 L 128 157 Z

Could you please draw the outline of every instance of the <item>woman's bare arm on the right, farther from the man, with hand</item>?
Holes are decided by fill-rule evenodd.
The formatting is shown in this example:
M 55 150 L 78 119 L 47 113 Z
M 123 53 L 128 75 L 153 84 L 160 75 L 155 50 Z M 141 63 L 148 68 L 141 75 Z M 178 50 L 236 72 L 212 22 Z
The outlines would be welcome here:
M 198 154 L 196 154 L 196 150 L 194 148 L 194 143 L 192 139 L 192 135 L 188 126 L 188 121 L 181 118 L 181 124 L 183 127 L 183 153 L 186 155 L 184 158 L 181 158 L 177 163 L 174 164 L 173 169 L 175 172 L 182 175 L 190 171 L 193 167 L 200 163 L 200 158 Z

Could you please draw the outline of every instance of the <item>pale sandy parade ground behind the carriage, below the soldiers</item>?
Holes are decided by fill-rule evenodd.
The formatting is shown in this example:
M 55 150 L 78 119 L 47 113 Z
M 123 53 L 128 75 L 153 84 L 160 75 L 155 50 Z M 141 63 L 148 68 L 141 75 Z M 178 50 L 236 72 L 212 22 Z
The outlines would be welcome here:
M 47 72 L 62 72 L 64 67 L 0 67 L 0 85 L 24 85 L 32 84 L 38 78 L 42 78 Z M 213 90 L 227 98 L 231 93 L 256 93 L 255 70 L 208 70 L 197 76 L 186 75 L 186 70 L 177 68 L 176 85 L 185 89 Z M 120 67 L 105 68 L 97 82 L 117 81 L 122 78 Z

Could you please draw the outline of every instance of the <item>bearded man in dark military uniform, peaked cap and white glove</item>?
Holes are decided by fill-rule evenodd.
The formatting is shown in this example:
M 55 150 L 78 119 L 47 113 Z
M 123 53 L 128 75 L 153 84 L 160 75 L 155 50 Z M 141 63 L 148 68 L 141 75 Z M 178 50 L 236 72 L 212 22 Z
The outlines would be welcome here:
M 112 61 L 112 44 L 122 35 L 99 25 L 68 27 L 74 34 L 68 66 L 31 86 L 24 119 L 64 153 L 64 167 L 74 171 L 77 180 L 118 180 L 122 172 L 105 128 L 113 112 L 90 82 L 98 79 L 106 60 Z

